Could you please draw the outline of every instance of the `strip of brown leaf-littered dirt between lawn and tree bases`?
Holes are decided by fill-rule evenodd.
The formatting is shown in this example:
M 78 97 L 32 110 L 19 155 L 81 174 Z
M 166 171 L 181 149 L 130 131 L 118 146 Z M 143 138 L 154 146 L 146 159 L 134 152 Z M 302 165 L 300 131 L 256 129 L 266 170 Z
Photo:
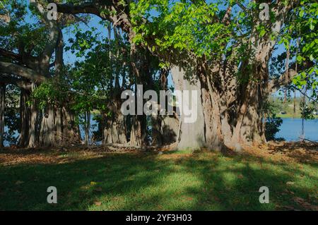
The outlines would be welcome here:
M 172 152 L 175 145 L 151 148 L 135 149 L 134 147 L 60 147 L 60 148 L 38 148 L 38 149 L 12 149 L 4 148 L 0 150 L 0 165 L 14 164 L 62 164 L 78 159 L 91 159 L 105 157 L 106 154 L 134 153 L 143 152 L 165 152 L 158 154 L 159 159 L 181 159 L 192 157 L 191 152 L 176 154 Z M 202 149 L 203 152 L 211 152 Z M 211 152 L 213 154 L 213 152 Z M 226 154 L 232 155 L 235 152 L 228 151 Z M 318 162 L 318 143 L 312 142 L 269 142 L 267 145 L 245 146 L 242 154 L 251 157 L 271 159 L 281 162 L 317 163 Z

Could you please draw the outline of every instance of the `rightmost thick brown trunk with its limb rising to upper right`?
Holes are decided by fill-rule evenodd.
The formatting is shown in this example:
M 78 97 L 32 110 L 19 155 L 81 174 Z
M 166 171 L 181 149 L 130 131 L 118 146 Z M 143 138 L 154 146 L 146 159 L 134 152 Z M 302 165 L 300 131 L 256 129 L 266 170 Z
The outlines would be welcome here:
M 293 4 L 292 4 L 293 5 Z M 275 23 L 271 24 L 272 32 L 279 32 L 283 24 L 283 14 L 290 6 L 286 5 L 281 10 L 273 10 L 277 13 Z M 268 35 L 259 37 L 257 26 L 261 23 L 254 20 L 254 28 L 249 37 L 250 60 L 243 62 L 241 73 L 245 80 L 238 85 L 236 92 L 235 123 L 232 124 L 233 135 L 231 147 L 241 148 L 242 145 L 257 145 L 266 142 L 265 121 L 263 104 L 269 96 L 269 59 L 276 44 L 276 39 L 271 39 Z M 270 32 L 269 32 L 270 33 Z M 289 54 L 289 53 L 288 53 Z M 287 56 L 289 58 L 289 56 Z M 288 59 L 285 62 L 285 80 L 288 78 Z

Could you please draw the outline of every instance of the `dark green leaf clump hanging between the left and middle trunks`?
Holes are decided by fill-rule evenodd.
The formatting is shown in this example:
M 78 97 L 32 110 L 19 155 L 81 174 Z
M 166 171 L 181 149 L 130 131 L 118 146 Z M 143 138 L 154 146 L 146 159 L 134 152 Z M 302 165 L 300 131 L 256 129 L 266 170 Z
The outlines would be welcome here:
M 69 89 L 74 93 L 73 109 L 78 112 L 105 111 L 107 100 L 114 91 L 115 76 L 127 73 L 128 68 L 123 66 L 127 51 L 122 51 L 127 46 L 121 39 L 118 40 L 119 44 L 114 40 L 99 40 L 98 35 L 90 31 L 77 30 L 75 37 L 69 40 L 71 46 L 66 50 L 71 49 L 72 53 L 84 60 L 76 61 L 68 75 Z M 110 55 L 116 58 L 110 59 Z

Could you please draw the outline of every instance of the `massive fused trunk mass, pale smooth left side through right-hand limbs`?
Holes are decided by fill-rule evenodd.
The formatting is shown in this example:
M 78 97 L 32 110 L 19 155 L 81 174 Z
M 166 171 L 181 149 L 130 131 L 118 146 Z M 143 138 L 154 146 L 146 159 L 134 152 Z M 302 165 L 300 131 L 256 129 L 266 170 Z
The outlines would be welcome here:
M 266 142 L 262 104 L 271 91 L 268 67 L 276 44 L 276 39 L 269 34 L 280 32 L 283 18 L 291 8 L 293 4 L 278 4 L 272 8 L 276 21 L 266 22 L 272 32 L 263 37 L 259 36 L 257 28 L 264 21 L 254 18 L 251 35 L 245 39 L 249 57 L 240 63 L 237 63 L 240 58 L 236 57 L 235 48 L 230 57 L 223 56 L 208 63 L 204 57 L 192 60 L 194 56 L 189 54 L 188 59 L 184 60 L 179 55 L 177 61 L 183 60 L 183 65 L 175 63 L 177 66 L 172 67 L 176 89 L 197 90 L 199 93 L 198 120 L 184 125 L 181 116 L 179 148 L 204 146 L 216 149 L 225 145 L 240 150 L 244 145 Z M 195 66 L 189 66 L 190 63 Z M 286 62 L 285 80 L 290 80 L 289 76 Z

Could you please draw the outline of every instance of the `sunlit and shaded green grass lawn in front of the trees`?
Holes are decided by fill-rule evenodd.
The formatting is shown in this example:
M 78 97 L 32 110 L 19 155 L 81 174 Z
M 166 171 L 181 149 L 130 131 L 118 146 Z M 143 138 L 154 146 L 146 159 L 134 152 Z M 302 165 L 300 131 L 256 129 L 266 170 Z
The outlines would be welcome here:
M 305 209 L 295 197 L 317 205 L 317 164 L 189 151 L 77 157 L 1 166 L 0 210 Z M 57 187 L 55 205 L 46 201 L 49 186 Z M 269 187 L 269 204 L 259 203 L 261 186 Z

